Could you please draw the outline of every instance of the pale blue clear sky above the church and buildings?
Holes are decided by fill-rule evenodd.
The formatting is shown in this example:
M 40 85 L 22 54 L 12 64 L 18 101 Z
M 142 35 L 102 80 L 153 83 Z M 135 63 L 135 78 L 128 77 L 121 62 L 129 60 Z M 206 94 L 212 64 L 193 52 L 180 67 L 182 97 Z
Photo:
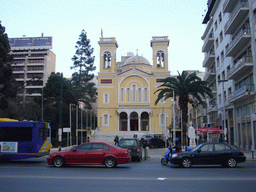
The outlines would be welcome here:
M 127 52 L 152 64 L 152 36 L 168 36 L 169 71 L 204 71 L 202 24 L 207 0 L 0 0 L 0 21 L 9 38 L 52 36 L 56 71 L 71 77 L 71 58 L 81 31 L 94 48 L 95 75 L 99 72 L 101 37 L 115 37 L 117 61 Z

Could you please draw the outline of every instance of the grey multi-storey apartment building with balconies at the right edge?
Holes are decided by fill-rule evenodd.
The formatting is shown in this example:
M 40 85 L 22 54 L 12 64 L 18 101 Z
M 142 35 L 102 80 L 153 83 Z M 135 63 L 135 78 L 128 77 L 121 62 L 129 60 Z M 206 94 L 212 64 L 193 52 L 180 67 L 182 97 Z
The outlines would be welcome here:
M 204 80 L 213 90 L 207 123 L 227 129 L 227 141 L 255 150 L 255 0 L 208 0 L 203 24 Z

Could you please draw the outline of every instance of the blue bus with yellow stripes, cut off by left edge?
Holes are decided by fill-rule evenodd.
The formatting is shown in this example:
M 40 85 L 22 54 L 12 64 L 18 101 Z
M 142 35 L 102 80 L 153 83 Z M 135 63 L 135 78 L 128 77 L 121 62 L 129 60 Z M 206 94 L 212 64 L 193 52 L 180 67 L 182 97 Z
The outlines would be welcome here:
M 27 159 L 50 154 L 49 123 L 0 118 L 0 159 Z

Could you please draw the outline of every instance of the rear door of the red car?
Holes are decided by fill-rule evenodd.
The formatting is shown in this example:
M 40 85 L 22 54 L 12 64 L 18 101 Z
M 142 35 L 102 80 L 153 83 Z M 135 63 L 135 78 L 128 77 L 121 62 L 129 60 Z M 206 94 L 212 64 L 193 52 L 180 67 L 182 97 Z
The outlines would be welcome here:
M 88 162 L 90 164 L 103 164 L 106 153 L 109 147 L 103 143 L 93 143 L 91 150 L 88 151 Z

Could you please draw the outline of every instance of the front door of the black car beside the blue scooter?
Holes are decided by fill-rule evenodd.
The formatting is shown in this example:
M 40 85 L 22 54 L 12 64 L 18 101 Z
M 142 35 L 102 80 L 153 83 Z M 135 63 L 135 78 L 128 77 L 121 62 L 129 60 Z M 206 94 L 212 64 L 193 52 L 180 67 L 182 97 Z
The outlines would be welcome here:
M 213 162 L 213 143 L 202 145 L 191 154 L 194 164 L 211 164 Z

